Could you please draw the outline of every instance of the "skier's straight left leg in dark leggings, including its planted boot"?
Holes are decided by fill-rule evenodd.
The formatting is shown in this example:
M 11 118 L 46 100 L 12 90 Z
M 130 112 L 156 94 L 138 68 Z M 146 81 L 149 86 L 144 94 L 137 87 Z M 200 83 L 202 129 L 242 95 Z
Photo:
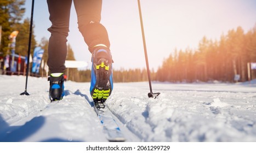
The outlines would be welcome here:
M 52 26 L 48 46 L 48 67 L 50 69 L 49 97 L 52 101 L 64 96 L 65 60 L 67 55 L 67 36 L 69 33 L 70 8 L 72 0 L 47 0 Z

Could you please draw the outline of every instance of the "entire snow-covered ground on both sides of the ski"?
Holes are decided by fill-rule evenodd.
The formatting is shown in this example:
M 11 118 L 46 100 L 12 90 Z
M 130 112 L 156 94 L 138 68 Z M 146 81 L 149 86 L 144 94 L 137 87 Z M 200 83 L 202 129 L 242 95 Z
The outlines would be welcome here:
M 46 78 L 0 75 L 0 142 L 107 142 L 89 83 L 65 82 L 50 103 Z M 256 142 L 256 82 L 115 83 L 107 107 L 127 142 Z M 50 103 L 50 104 L 49 104 Z

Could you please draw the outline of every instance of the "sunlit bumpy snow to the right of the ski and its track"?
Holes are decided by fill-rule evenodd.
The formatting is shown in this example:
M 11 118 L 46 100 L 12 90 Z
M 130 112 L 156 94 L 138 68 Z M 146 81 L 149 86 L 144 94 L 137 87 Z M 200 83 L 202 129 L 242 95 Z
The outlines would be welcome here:
M 148 90 L 141 83 L 127 85 L 123 84 L 122 90 L 116 89 L 111 96 L 117 99 L 116 103 L 108 104 L 142 140 L 256 141 L 254 84 L 153 84 L 155 92 L 161 92 L 157 99 L 136 94 Z M 129 92 L 131 88 L 135 91 Z M 118 98 L 123 93 L 126 98 Z

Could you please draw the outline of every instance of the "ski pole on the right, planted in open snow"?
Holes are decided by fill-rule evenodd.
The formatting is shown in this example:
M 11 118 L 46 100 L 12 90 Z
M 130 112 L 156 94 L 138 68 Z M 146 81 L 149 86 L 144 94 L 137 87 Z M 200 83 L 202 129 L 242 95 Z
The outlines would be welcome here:
M 150 93 L 148 93 L 147 96 L 149 96 L 149 98 L 153 98 L 153 97 L 156 98 L 158 95 L 160 95 L 160 92 L 153 93 L 153 91 L 152 91 L 151 78 L 150 78 L 150 69 L 149 69 L 149 60 L 147 58 L 146 40 L 145 40 L 143 21 L 142 21 L 142 15 L 141 15 L 140 0 L 138 0 L 138 6 L 139 6 L 140 26 L 141 26 L 141 33 L 142 33 L 142 38 L 143 38 L 144 54 L 145 54 L 146 66 L 147 66 L 147 77 L 149 78 Z

